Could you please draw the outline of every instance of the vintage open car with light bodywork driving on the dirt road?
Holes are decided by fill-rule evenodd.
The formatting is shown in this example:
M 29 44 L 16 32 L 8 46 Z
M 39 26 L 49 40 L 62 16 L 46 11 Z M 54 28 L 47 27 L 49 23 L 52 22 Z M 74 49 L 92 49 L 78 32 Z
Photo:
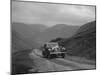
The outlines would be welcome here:
M 42 49 L 42 55 L 45 58 L 51 58 L 51 57 L 57 57 L 61 56 L 62 58 L 65 57 L 65 48 L 62 46 L 59 46 L 58 43 L 50 42 L 46 43 L 43 46 Z

